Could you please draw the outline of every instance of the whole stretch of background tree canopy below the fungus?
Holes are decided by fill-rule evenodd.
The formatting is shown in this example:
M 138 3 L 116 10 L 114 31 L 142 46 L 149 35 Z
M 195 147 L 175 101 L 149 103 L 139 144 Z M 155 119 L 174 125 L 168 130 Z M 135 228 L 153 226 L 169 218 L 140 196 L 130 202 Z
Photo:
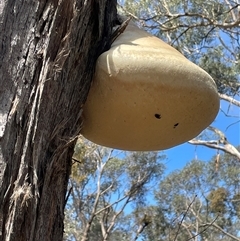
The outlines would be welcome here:
M 234 156 L 194 159 L 164 175 L 157 152 L 119 153 L 89 142 L 76 149 L 65 240 L 240 240 Z

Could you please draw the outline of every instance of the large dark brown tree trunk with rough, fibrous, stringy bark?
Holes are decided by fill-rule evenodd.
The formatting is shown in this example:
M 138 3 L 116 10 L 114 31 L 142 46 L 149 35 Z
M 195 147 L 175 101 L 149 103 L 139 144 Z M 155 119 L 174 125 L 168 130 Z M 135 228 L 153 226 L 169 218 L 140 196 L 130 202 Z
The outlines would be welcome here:
M 116 0 L 0 1 L 0 240 L 62 240 L 71 157 Z

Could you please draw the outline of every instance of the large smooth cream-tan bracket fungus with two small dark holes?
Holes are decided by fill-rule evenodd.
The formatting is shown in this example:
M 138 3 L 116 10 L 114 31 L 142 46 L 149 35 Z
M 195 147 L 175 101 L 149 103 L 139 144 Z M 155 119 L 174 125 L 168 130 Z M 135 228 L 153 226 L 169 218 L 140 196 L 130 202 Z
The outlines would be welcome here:
M 197 136 L 218 109 L 209 74 L 130 22 L 98 58 L 82 134 L 122 150 L 163 150 Z

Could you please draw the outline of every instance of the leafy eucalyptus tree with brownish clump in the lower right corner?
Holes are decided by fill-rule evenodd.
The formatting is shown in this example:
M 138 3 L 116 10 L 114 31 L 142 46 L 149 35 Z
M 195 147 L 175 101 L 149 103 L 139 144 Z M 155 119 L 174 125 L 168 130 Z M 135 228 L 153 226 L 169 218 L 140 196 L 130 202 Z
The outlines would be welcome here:
M 152 219 L 144 240 L 240 240 L 240 164 L 220 158 L 193 160 L 160 182 L 157 204 L 146 208 Z

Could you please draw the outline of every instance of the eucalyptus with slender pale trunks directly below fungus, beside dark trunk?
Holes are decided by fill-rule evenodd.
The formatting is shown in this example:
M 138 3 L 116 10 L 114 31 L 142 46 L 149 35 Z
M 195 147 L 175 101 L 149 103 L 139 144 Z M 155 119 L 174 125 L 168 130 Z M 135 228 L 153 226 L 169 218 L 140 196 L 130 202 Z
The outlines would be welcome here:
M 66 240 L 128 240 L 141 224 L 129 213 L 147 205 L 161 179 L 158 152 L 122 152 L 79 139 L 73 156 L 66 206 Z

